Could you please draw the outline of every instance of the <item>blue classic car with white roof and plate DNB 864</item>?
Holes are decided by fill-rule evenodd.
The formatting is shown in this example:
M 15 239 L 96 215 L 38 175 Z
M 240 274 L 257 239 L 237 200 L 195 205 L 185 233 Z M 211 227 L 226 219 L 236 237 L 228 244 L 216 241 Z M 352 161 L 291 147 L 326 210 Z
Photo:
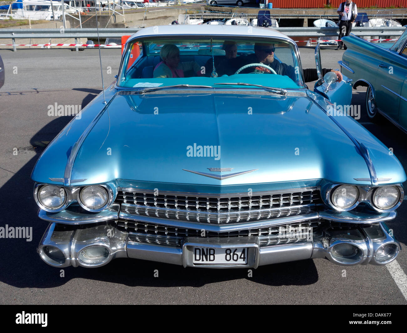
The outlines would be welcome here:
M 315 58 L 311 91 L 295 42 L 269 28 L 131 36 L 117 81 L 35 165 L 38 216 L 49 222 L 41 258 L 204 268 L 394 260 L 400 244 L 385 221 L 403 200 L 405 172 L 339 112 L 351 86 L 323 78 L 318 48 Z

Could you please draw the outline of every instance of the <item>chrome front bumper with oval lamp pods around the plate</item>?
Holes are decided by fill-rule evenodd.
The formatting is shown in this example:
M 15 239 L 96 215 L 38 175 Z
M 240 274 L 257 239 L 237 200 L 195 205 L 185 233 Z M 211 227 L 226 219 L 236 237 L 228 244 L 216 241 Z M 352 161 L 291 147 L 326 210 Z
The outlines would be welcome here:
M 162 242 L 157 241 L 154 235 L 139 235 L 120 231 L 112 222 L 98 225 L 67 226 L 63 224 L 50 223 L 38 247 L 41 258 L 51 266 L 83 266 L 100 267 L 106 265 L 115 258 L 134 258 L 163 263 L 172 263 L 184 267 L 203 268 L 257 268 L 258 266 L 273 263 L 283 263 L 312 258 L 327 258 L 339 265 L 383 265 L 393 261 L 401 250 L 399 242 L 389 233 L 384 222 L 379 224 L 360 227 L 349 237 L 346 233 L 330 237 L 329 240 L 320 235 L 317 238 L 300 240 L 289 244 L 261 246 L 259 237 L 185 237 L 178 242 L 171 237 L 162 237 Z M 158 244 L 160 243 L 160 244 Z M 356 246 L 360 256 L 357 259 L 345 260 L 335 256 L 334 246 L 338 244 L 351 244 Z M 394 244 L 396 252 L 387 261 L 379 262 L 376 252 L 385 244 Z M 54 260 L 49 257 L 46 247 L 54 246 L 59 253 L 63 253 L 65 259 Z M 103 246 L 109 253 L 107 258 L 97 264 L 88 264 L 79 259 L 79 254 L 90 246 Z M 202 247 L 239 247 L 250 248 L 250 258 L 247 265 L 197 265 L 192 260 L 193 246 Z

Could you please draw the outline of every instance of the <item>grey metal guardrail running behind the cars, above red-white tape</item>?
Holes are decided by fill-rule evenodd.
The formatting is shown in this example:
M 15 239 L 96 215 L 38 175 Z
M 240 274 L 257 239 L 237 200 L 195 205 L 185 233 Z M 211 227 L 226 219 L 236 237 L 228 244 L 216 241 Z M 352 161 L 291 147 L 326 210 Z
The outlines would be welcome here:
M 132 35 L 140 28 L 100 28 L 99 37 L 121 37 Z M 339 28 L 335 27 L 279 27 L 276 30 L 287 36 L 323 37 L 339 35 Z M 398 36 L 405 27 L 353 27 L 352 33 L 356 36 Z M 97 38 L 96 28 L 69 28 L 69 29 L 0 29 L 0 39 L 12 39 L 15 44 L 17 38 Z M 13 46 L 14 50 L 15 46 Z

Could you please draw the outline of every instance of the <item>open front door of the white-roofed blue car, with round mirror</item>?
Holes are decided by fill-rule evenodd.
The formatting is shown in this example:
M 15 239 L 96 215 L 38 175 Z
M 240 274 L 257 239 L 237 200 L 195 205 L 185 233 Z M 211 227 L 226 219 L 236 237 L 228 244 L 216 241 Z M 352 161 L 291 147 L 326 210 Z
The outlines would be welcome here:
M 334 82 L 328 85 L 322 76 L 321 54 L 319 44 L 315 48 L 315 64 L 317 66 L 318 81 L 315 83 L 314 91 L 327 98 L 337 105 L 351 105 L 352 101 L 352 80 L 343 75 L 341 82 Z

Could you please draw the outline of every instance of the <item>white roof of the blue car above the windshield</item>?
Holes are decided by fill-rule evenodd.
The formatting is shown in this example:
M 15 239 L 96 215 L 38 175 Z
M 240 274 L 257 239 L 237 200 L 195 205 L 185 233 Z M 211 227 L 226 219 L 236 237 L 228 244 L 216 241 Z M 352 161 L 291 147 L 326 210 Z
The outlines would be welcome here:
M 292 41 L 290 37 L 271 28 L 256 26 L 234 26 L 215 24 L 171 24 L 166 26 L 150 26 L 137 31 L 129 41 L 138 37 L 174 35 L 230 35 L 239 37 L 277 37 Z

